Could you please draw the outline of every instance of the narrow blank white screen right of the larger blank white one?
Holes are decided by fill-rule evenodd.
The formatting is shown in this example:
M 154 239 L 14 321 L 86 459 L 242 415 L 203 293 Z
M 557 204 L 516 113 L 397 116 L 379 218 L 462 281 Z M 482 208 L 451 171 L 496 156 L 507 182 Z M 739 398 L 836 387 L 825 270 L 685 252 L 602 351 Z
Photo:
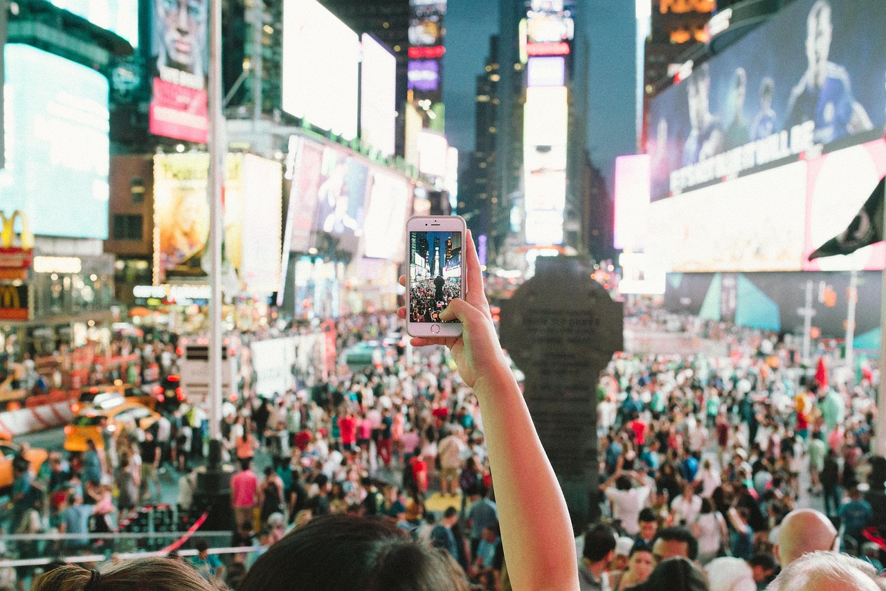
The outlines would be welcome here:
M 372 35 L 362 35 L 360 138 L 382 156 L 394 152 L 397 58 Z

